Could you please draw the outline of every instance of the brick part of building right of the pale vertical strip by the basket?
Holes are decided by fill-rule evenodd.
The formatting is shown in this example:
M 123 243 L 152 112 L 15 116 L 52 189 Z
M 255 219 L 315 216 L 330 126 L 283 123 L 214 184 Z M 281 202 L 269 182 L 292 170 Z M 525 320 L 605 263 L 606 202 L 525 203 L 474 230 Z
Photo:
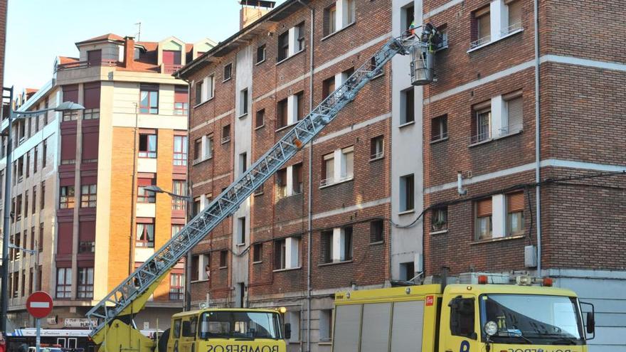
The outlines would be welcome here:
M 590 351 L 626 351 L 626 9 L 595 5 L 415 4 L 448 38 L 420 97 L 425 272 L 553 277 L 595 304 Z

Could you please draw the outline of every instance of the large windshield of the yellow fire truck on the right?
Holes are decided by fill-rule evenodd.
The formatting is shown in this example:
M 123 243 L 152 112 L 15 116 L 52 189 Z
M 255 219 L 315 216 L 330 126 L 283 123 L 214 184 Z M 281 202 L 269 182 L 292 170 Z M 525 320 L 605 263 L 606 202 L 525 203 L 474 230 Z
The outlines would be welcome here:
M 496 343 L 582 345 L 578 302 L 573 297 L 533 294 L 484 294 L 481 325 L 494 321 Z M 484 336 L 483 336 L 484 337 Z

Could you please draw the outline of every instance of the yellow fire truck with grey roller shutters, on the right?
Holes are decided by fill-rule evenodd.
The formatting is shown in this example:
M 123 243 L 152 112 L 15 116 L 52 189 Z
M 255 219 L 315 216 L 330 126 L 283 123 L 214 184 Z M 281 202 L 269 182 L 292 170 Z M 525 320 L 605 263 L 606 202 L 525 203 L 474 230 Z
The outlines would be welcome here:
M 340 292 L 333 352 L 586 352 L 593 311 L 551 279 Z M 543 287 L 531 282 L 543 282 Z M 593 306 L 592 306 L 593 307 Z

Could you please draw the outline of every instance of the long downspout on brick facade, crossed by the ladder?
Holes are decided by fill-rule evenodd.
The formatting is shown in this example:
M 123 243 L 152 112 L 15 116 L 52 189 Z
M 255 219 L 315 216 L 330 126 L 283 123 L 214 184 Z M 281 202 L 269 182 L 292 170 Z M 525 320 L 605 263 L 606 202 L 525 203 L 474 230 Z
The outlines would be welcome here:
M 297 0 L 299 4 L 307 7 L 311 10 L 311 25 L 310 25 L 310 33 L 309 33 L 309 111 L 312 110 L 313 107 L 313 43 L 314 43 L 314 20 L 315 20 L 315 12 L 314 9 L 302 2 L 302 0 Z M 312 230 L 313 230 L 313 140 L 309 142 L 309 199 L 307 201 L 308 212 L 307 212 L 307 352 L 311 351 L 311 242 L 312 242 Z

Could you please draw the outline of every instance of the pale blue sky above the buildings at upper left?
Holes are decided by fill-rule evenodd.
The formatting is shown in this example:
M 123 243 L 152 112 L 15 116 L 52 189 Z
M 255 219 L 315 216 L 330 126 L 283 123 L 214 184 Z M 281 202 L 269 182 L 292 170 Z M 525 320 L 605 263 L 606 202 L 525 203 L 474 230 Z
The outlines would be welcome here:
M 39 88 L 51 80 L 56 56 L 78 56 L 74 43 L 137 36 L 138 22 L 142 41 L 223 41 L 239 30 L 239 9 L 238 0 L 9 0 L 4 86 Z

